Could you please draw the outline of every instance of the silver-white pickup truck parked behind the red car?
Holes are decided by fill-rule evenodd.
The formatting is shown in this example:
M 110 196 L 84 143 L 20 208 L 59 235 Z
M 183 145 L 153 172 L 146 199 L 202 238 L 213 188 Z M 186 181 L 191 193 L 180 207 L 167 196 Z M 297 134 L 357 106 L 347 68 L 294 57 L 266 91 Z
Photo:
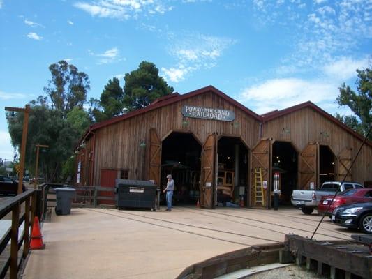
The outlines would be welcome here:
M 340 181 L 328 181 L 323 183 L 322 187 L 317 190 L 293 190 L 291 202 L 294 206 L 301 209 L 305 214 L 313 213 L 317 208 L 320 199 L 325 195 L 334 195 L 336 190 L 338 193 L 352 188 L 363 188 L 362 185 L 355 182 L 344 182 L 341 185 Z

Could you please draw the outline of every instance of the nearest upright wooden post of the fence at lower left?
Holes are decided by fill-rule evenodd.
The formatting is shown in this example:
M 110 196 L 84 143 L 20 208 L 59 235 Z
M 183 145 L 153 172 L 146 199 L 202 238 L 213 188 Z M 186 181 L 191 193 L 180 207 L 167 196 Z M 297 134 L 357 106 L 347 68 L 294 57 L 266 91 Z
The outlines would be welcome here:
M 18 273 L 18 227 L 20 227 L 20 204 L 12 210 L 12 234 L 10 244 L 10 279 L 17 279 Z

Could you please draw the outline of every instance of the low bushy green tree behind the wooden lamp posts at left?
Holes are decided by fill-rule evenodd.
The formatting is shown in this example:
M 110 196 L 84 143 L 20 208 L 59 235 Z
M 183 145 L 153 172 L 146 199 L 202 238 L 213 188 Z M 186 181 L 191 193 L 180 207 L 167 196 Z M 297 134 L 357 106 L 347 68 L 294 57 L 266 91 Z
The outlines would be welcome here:
M 59 181 L 61 167 L 72 155 L 81 132 L 62 117 L 60 110 L 50 109 L 47 105 L 32 105 L 31 110 L 25 156 L 26 167 L 34 173 L 36 144 L 47 144 L 49 148 L 40 150 L 39 173 L 45 176 L 46 181 Z M 22 112 L 16 113 L 15 116 L 7 114 L 7 119 L 12 144 L 19 151 L 24 114 Z

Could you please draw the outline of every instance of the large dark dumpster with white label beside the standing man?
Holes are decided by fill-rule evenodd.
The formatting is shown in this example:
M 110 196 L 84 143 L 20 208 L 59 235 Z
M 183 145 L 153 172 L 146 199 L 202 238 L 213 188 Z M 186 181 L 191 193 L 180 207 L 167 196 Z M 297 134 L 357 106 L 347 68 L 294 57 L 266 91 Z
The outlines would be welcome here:
M 156 188 L 151 181 L 116 179 L 115 205 L 156 211 Z

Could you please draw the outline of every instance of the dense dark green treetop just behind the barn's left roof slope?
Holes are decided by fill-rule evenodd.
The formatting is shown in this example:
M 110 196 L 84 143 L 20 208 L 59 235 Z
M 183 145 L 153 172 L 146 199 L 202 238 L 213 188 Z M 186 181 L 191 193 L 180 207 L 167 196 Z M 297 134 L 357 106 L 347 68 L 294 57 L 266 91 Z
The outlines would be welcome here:
M 146 107 L 156 98 L 173 93 L 154 63 L 142 61 L 137 70 L 124 77 L 124 108 L 128 111 Z

